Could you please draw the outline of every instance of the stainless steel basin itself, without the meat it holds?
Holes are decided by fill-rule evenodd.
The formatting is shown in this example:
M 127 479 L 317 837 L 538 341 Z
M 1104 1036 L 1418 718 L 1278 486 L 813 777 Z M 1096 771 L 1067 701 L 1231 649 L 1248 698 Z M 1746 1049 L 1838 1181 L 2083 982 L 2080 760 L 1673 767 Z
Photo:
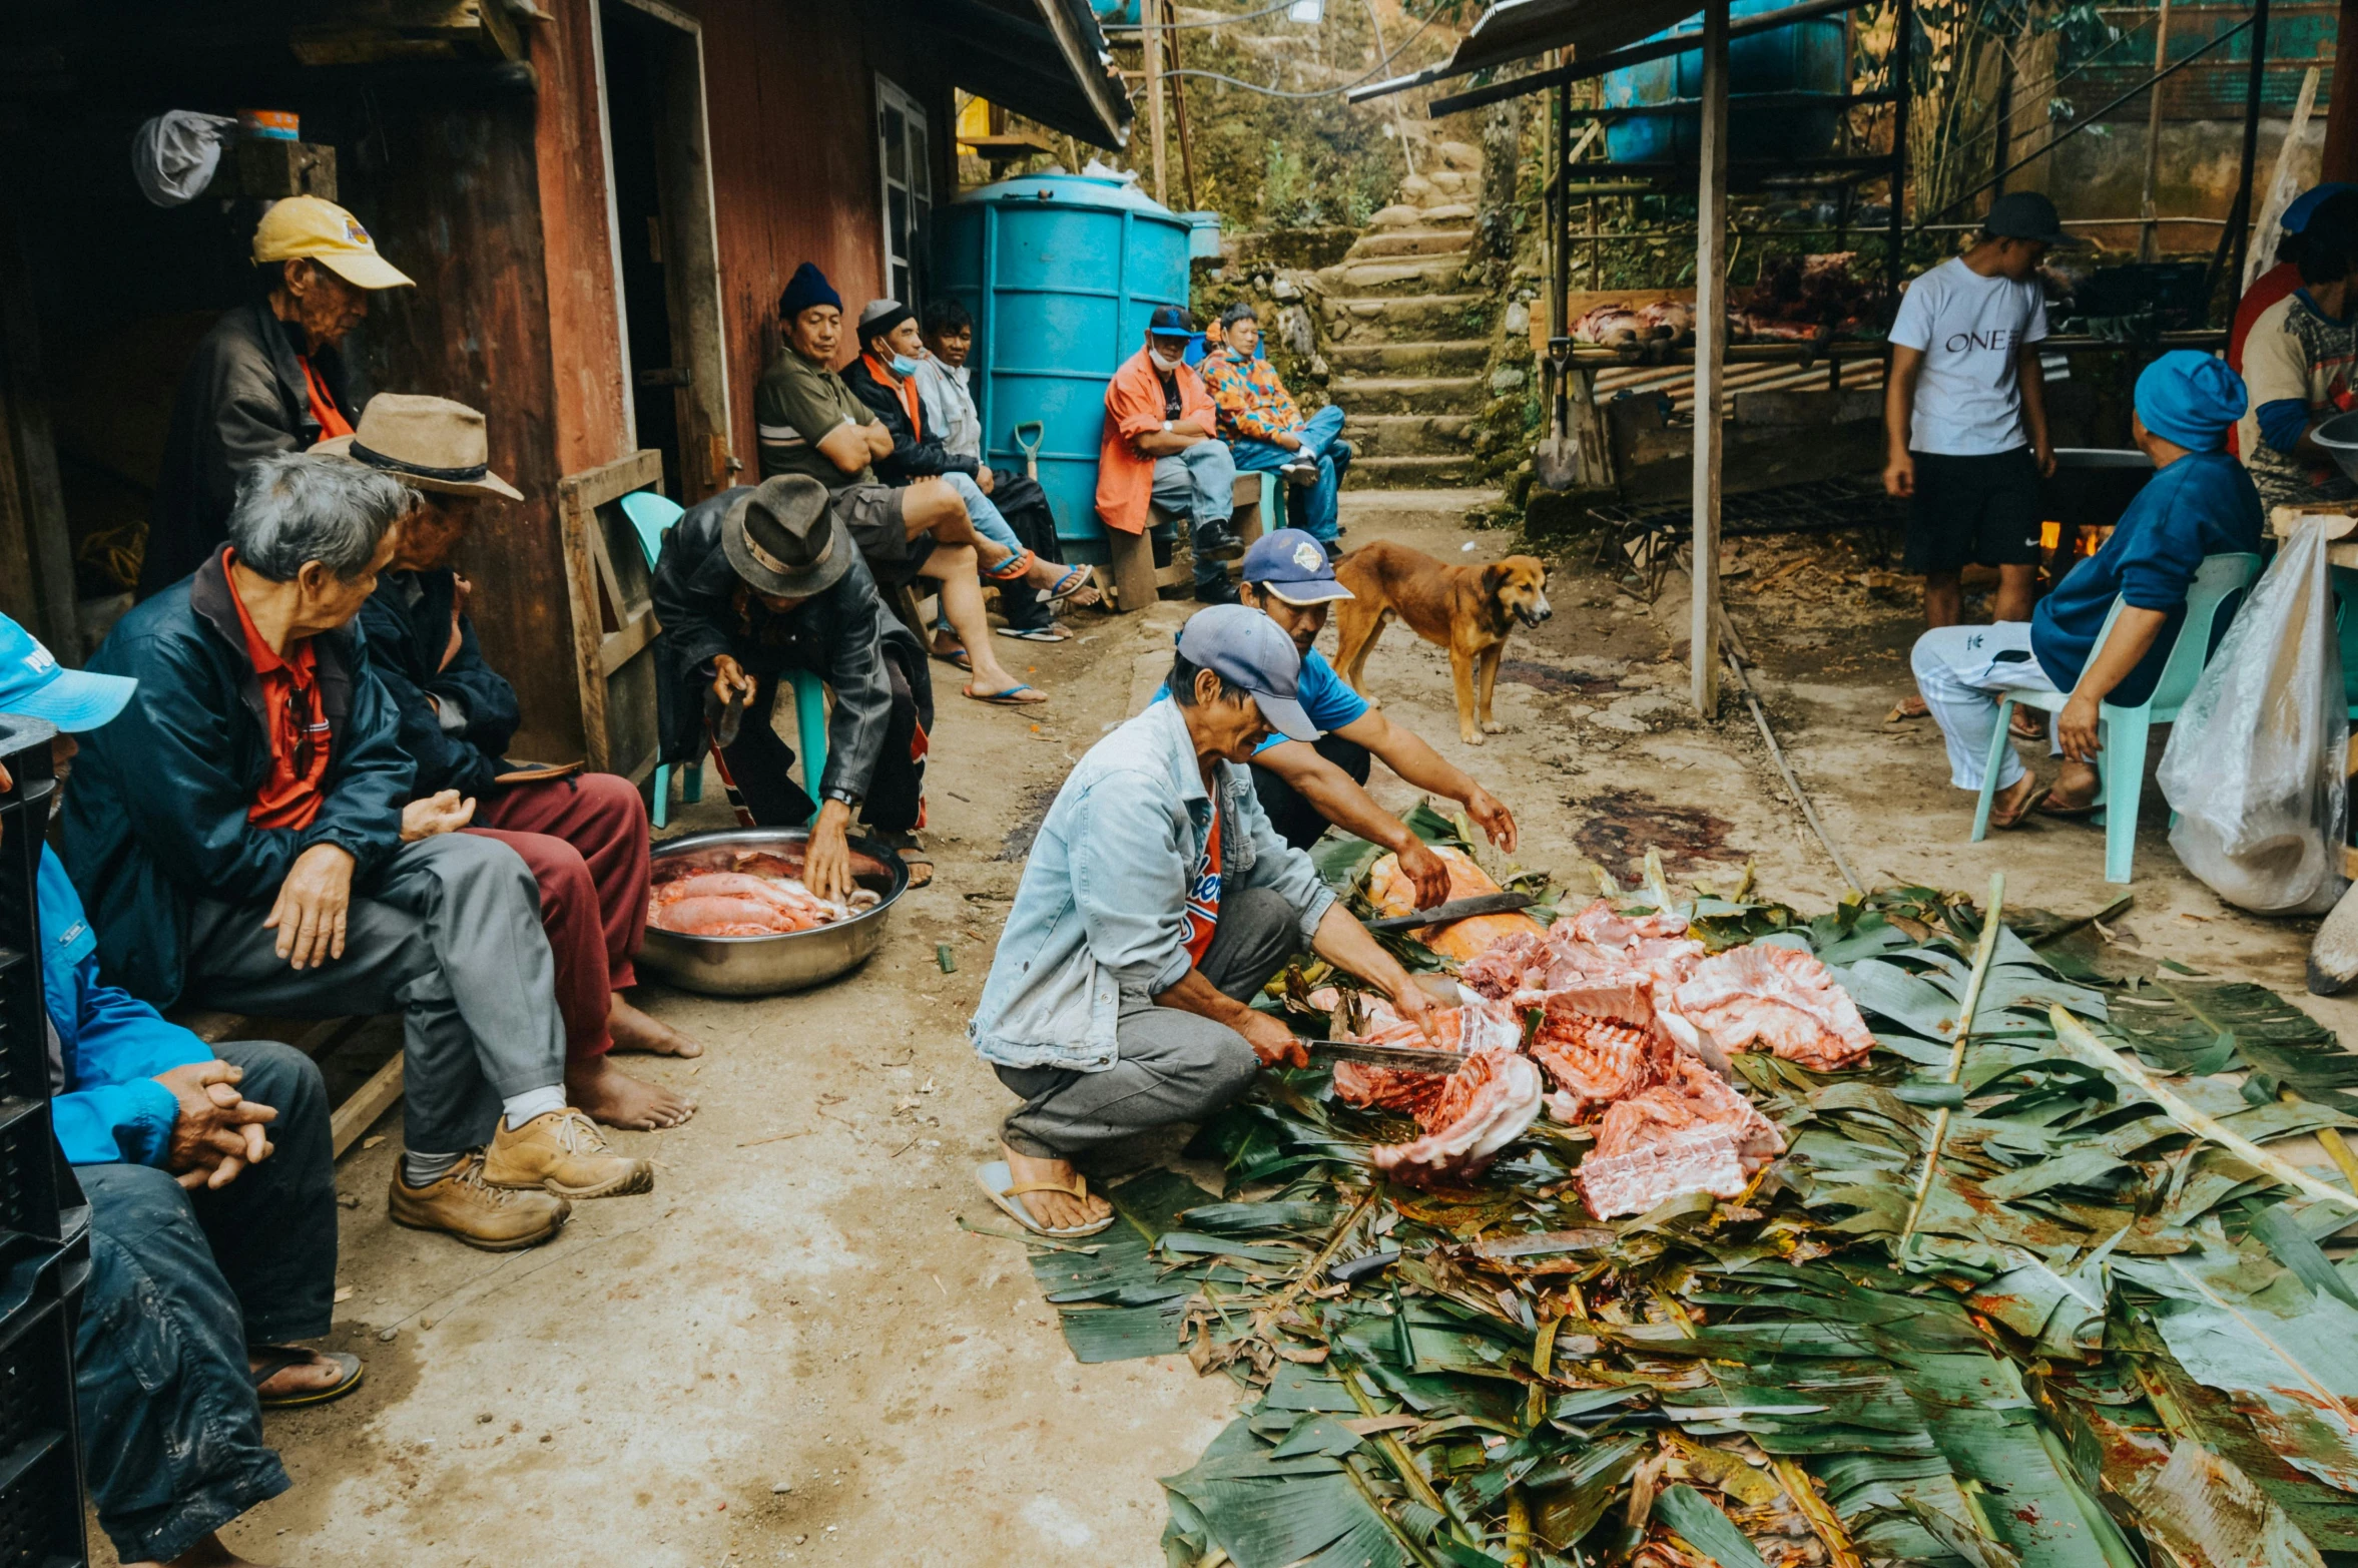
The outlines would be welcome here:
M 681 861 L 726 870 L 745 849 L 769 849 L 799 861 L 809 839 L 811 835 L 802 828 L 731 828 L 665 839 L 648 858 L 658 877 L 667 865 Z M 851 872 L 882 903 L 851 920 L 785 936 L 686 936 L 646 927 L 639 967 L 681 990 L 714 997 L 766 997 L 823 986 L 858 969 L 884 946 L 884 922 L 891 920 L 891 905 L 908 891 L 908 865 L 875 839 L 851 837 Z

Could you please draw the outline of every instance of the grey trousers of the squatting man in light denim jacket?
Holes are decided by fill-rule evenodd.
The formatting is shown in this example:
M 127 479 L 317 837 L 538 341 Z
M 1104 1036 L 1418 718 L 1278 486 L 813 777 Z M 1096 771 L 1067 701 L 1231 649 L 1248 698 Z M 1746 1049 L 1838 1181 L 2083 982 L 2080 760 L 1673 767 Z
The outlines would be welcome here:
M 1250 1002 L 1302 943 L 1295 905 L 1266 887 L 1221 898 L 1219 927 L 1203 955 L 1203 979 L 1221 995 Z M 997 1068 L 1023 1096 L 1000 1137 L 1038 1160 L 1120 1144 L 1153 1127 L 1200 1122 L 1252 1085 L 1262 1068 L 1252 1047 L 1226 1023 L 1144 995 L 1122 995 L 1115 1061 L 1101 1073 L 1068 1068 Z

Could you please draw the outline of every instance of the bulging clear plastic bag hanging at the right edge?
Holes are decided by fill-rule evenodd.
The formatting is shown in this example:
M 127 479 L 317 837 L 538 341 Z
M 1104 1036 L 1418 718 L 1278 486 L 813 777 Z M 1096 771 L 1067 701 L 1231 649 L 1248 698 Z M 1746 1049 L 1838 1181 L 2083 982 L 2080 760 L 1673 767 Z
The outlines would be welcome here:
M 2349 707 L 2325 526 L 2304 521 L 2252 585 L 2162 752 L 2169 846 L 2254 915 L 2341 898 Z

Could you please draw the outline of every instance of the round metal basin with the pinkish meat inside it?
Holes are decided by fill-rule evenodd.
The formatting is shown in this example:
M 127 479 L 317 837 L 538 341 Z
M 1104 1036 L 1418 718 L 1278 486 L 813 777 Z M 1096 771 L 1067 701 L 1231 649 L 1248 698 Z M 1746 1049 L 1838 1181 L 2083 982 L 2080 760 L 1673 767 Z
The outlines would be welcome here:
M 809 837 L 802 828 L 731 828 L 656 844 L 639 964 L 681 990 L 714 997 L 802 990 L 863 964 L 884 946 L 884 922 L 908 891 L 908 868 L 884 844 L 854 837 L 851 879 L 861 891 L 851 908 L 806 913 L 818 905 L 799 884 Z M 806 929 L 764 929 L 804 920 Z

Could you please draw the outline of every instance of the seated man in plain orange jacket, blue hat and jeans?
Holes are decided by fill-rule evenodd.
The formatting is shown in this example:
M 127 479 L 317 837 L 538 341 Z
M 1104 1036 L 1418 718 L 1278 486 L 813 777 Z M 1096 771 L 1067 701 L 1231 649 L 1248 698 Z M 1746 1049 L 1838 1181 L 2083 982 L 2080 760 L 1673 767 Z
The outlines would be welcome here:
M 1217 410 L 1203 377 L 1181 358 L 1196 328 L 1177 304 L 1158 304 L 1146 347 L 1106 387 L 1106 434 L 1096 448 L 1096 514 L 1108 528 L 1144 533 L 1148 502 L 1188 523 L 1196 599 L 1236 604 L 1221 561 L 1245 554 L 1229 526 L 1236 460 L 1212 431 Z

